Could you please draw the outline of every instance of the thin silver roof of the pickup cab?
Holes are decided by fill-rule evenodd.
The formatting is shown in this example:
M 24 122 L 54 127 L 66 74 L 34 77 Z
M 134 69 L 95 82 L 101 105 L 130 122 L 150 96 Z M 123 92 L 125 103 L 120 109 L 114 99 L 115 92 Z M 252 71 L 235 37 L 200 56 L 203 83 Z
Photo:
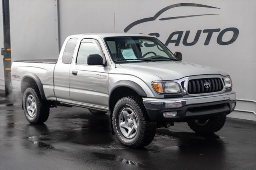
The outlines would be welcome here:
M 143 37 L 150 37 L 148 35 L 144 35 L 144 34 L 127 34 L 127 33 L 88 33 L 88 34 L 76 34 L 76 35 L 72 35 L 69 37 L 76 37 L 79 38 L 81 36 L 98 36 L 101 38 L 105 38 L 105 37 L 121 37 L 121 36 L 143 36 Z

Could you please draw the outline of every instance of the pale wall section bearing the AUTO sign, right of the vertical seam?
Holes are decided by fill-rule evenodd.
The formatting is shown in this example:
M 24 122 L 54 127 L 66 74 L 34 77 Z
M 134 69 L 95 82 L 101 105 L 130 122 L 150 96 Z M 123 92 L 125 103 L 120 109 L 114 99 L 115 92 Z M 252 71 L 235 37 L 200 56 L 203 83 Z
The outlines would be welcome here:
M 116 32 L 136 20 L 153 17 L 166 6 L 186 1 L 62 1 L 59 3 L 60 40 L 64 42 L 70 34 L 90 32 L 114 32 L 114 13 L 116 13 Z M 183 31 L 180 44 L 169 43 L 171 51 L 181 51 L 183 61 L 198 63 L 228 72 L 234 84 L 238 99 L 256 100 L 256 1 L 189 1 L 216 8 L 182 6 L 163 12 L 154 21 L 132 27 L 128 33 L 159 33 L 159 39 L 166 42 L 172 32 Z M 179 6 L 179 5 L 178 5 Z M 216 14 L 160 20 L 161 18 Z M 226 28 L 239 30 L 237 39 L 228 45 L 217 43 L 218 35 Z M 214 32 L 208 45 L 204 45 L 207 33 L 203 30 L 220 29 Z M 187 42 L 193 42 L 196 32 L 202 30 L 198 42 L 191 46 L 183 45 L 186 31 L 190 31 Z M 222 36 L 228 42 L 233 32 Z M 177 35 L 173 39 L 177 39 Z M 237 102 L 236 109 L 256 112 L 256 103 Z M 230 117 L 256 120 L 256 115 L 246 112 L 233 112 Z

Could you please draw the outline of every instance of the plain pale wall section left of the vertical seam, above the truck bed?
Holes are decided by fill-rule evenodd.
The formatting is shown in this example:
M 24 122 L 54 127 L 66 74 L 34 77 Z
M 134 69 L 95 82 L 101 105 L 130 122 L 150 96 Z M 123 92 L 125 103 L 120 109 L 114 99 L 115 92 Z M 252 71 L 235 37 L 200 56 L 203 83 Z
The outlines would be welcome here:
M 0 0 L 0 47 L 3 47 Z M 12 60 L 58 57 L 56 0 L 10 0 Z M 3 56 L 0 57 L 0 89 L 4 89 Z

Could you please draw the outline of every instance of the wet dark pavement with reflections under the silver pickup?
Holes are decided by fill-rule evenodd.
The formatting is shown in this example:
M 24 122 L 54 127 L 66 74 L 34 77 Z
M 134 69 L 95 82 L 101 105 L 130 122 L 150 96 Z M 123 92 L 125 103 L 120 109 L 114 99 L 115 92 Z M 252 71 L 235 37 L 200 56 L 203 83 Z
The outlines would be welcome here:
M 58 107 L 32 125 L 20 103 L 0 105 L 0 169 L 256 168 L 256 123 L 228 118 L 222 130 L 200 136 L 186 125 L 159 128 L 143 149 L 122 146 L 110 132 L 110 115 Z

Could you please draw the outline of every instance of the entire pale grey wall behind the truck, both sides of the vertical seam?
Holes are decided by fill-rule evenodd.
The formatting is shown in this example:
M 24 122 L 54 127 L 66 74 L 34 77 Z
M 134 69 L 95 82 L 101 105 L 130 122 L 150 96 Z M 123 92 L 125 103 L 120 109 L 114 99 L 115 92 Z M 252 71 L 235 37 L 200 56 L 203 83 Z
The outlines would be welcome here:
M 207 65 L 230 74 L 238 99 L 256 100 L 256 1 L 89 1 L 59 0 L 59 17 L 56 20 L 56 0 L 10 1 L 11 43 L 13 59 L 54 58 L 58 56 L 58 31 L 60 43 L 66 36 L 90 32 L 124 32 L 130 23 L 154 16 L 166 6 L 180 3 L 197 3 L 217 8 L 182 6 L 163 12 L 156 20 L 138 24 L 128 33 L 159 33 L 159 39 L 166 42 L 172 32 L 183 31 L 178 46 L 169 43 L 174 51 L 181 51 L 183 61 Z M 159 20 L 160 18 L 198 14 L 218 14 Z M 2 18 L 1 18 L 2 20 Z M 58 29 L 59 22 L 59 29 Z M 2 28 L 2 26 L 1 26 Z M 229 45 L 217 43 L 220 32 L 214 32 L 209 45 L 204 45 L 206 29 L 220 31 L 237 28 L 237 39 Z M 186 31 L 190 30 L 188 42 L 192 42 L 197 30 L 202 30 L 195 45 L 183 45 Z M 2 32 L 1 32 L 2 35 Z M 222 41 L 232 38 L 226 32 Z M 173 37 L 173 39 L 177 36 Z M 0 42 L 1 43 L 1 42 Z M 2 59 L 1 59 L 2 60 Z M 236 109 L 256 111 L 255 103 L 238 101 Z M 256 120 L 252 113 L 233 112 L 230 117 Z

